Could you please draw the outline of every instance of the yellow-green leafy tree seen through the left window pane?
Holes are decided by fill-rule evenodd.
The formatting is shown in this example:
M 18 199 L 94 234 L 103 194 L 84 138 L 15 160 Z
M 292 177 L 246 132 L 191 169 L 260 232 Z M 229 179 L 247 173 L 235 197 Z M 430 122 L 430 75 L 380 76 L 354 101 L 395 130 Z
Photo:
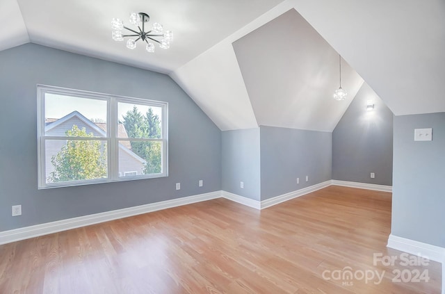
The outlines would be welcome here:
M 93 137 L 85 128 L 79 129 L 75 124 L 65 132 L 67 137 Z M 51 157 L 54 172 L 49 181 L 77 181 L 100 179 L 106 177 L 106 150 L 96 140 L 67 140 L 58 154 Z

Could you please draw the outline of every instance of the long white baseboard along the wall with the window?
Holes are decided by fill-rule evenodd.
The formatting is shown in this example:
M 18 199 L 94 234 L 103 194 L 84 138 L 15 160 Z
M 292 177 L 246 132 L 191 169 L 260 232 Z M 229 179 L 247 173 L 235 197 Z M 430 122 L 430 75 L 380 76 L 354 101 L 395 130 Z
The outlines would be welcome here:
M 98 224 L 99 222 L 108 222 L 110 220 L 117 220 L 119 218 L 127 218 L 133 215 L 149 213 L 152 211 L 159 211 L 161 209 L 170 209 L 176 206 L 186 204 L 193 204 L 206 200 L 216 199 L 221 197 L 221 191 L 205 193 L 200 195 L 193 195 L 182 197 L 178 199 L 171 199 L 151 204 L 144 204 L 140 206 L 129 207 L 127 209 L 118 209 L 115 211 L 106 211 L 103 213 L 95 213 L 92 215 L 84 215 L 78 218 L 69 218 L 67 220 L 58 220 L 56 222 L 47 222 L 44 224 L 36 224 L 30 227 L 23 227 L 19 229 L 12 229 L 9 231 L 0 232 L 0 245 L 11 243 L 28 238 L 43 236 L 47 234 L 57 233 L 58 231 L 66 231 L 68 229 L 76 229 L 78 227 L 85 227 L 90 224 Z

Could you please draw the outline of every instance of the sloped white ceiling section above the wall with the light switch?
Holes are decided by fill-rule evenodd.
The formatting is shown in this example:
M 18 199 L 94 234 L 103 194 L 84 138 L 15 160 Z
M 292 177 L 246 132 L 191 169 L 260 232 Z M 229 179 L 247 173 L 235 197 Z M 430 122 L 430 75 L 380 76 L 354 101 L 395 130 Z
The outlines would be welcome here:
M 444 0 L 296 0 L 394 115 L 445 111 Z

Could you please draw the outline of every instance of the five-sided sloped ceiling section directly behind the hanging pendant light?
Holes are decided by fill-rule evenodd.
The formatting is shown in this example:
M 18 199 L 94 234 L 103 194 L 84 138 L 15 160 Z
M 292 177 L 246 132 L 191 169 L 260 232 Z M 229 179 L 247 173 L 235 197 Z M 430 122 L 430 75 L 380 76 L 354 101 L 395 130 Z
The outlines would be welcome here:
M 291 9 L 233 43 L 259 125 L 333 131 L 363 83 L 339 54 Z

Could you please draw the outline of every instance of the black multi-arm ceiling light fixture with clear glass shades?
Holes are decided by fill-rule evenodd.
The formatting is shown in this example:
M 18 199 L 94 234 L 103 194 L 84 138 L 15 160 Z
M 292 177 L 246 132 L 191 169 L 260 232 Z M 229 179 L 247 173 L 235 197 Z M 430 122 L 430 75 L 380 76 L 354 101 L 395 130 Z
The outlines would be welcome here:
M 142 40 L 143 42 L 147 43 L 145 49 L 149 52 L 154 52 L 153 42 L 158 43 L 159 47 L 161 47 L 162 49 L 170 48 L 170 42 L 173 40 L 172 31 L 163 31 L 162 25 L 155 22 L 152 25 L 152 28 L 146 32 L 145 23 L 148 22 L 149 19 L 150 17 L 149 15 L 147 15 L 147 13 L 131 13 L 129 22 L 130 24 L 138 27 L 139 31 L 136 31 L 131 28 L 127 28 L 127 26 L 124 26 L 124 22 L 122 20 L 113 18 L 113 21 L 111 22 L 111 28 L 113 28 L 113 40 L 122 42 L 126 37 L 136 37 L 134 39 L 130 38 L 127 40 L 127 48 L 135 49 L 136 42 L 138 42 L 138 40 Z M 129 35 L 122 34 L 122 29 L 124 28 L 129 31 Z M 159 38 L 161 39 L 159 40 Z M 153 42 L 149 42 L 149 40 Z

